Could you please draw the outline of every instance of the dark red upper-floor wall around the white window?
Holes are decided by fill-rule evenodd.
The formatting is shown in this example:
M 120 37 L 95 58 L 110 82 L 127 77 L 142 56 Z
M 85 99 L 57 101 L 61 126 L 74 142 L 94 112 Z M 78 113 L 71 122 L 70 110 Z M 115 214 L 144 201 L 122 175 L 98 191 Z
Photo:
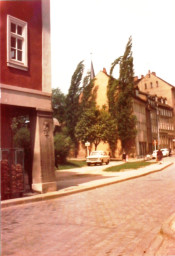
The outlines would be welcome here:
M 42 90 L 42 14 L 41 1 L 1 1 L 1 83 Z M 7 15 L 28 23 L 28 70 L 7 66 Z

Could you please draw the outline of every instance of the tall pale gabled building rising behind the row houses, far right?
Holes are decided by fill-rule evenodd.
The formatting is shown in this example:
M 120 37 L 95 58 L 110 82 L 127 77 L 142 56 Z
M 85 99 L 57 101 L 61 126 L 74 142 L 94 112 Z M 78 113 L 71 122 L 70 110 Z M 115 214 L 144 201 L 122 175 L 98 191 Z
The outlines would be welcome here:
M 149 95 L 149 102 L 156 108 L 152 114 L 153 120 L 157 118 L 158 135 L 157 143 L 160 148 L 175 148 L 175 86 L 158 77 L 155 72 L 150 72 L 135 82 L 140 91 Z M 153 121 L 155 123 L 155 121 Z M 154 125 L 155 127 L 155 125 Z M 155 128 L 154 128 L 155 131 Z M 155 133 L 153 131 L 153 134 Z M 156 137 L 156 136 L 154 136 Z

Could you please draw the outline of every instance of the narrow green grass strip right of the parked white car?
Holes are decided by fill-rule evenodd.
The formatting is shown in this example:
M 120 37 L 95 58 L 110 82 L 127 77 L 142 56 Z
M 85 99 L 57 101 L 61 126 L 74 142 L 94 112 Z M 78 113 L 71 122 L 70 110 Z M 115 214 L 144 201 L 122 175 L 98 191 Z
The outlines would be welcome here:
M 137 161 L 137 162 L 127 162 L 124 164 L 116 165 L 116 166 L 111 166 L 106 168 L 104 171 L 105 172 L 120 172 L 122 170 L 128 170 L 128 169 L 138 169 L 150 164 L 154 164 L 154 162 L 145 162 L 145 161 Z

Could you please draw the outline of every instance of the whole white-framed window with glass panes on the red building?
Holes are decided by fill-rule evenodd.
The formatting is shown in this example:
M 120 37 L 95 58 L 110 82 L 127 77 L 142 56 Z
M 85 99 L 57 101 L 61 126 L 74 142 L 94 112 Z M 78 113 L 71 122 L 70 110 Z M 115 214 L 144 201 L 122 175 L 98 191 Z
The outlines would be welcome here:
M 27 22 L 7 15 L 7 66 L 28 70 Z

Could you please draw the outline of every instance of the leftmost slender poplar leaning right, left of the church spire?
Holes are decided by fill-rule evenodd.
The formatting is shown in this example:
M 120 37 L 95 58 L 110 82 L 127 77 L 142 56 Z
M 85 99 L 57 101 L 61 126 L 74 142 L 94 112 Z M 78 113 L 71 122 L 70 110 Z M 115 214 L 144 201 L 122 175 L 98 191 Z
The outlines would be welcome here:
M 80 116 L 80 104 L 79 97 L 82 91 L 80 87 L 84 72 L 84 64 L 81 61 L 72 76 L 71 85 L 66 97 L 66 125 L 68 128 L 69 135 L 75 144 L 75 148 L 78 148 L 78 141 L 75 137 L 75 126 Z M 77 152 L 75 152 L 75 155 Z

